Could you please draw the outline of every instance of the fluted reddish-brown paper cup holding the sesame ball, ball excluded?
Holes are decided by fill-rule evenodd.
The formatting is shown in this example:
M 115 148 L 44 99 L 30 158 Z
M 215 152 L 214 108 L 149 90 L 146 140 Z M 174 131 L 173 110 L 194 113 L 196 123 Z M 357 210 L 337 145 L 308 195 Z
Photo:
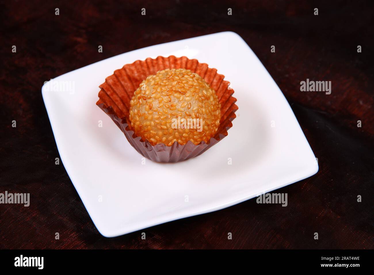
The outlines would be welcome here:
M 221 120 L 217 133 L 208 143 L 202 141 L 195 145 L 188 141 L 180 145 L 177 141 L 172 146 L 159 143 L 151 145 L 148 140 L 141 141 L 131 129 L 129 120 L 130 100 L 140 83 L 150 74 L 164 69 L 185 68 L 199 74 L 215 90 L 221 104 Z M 99 88 L 99 100 L 96 105 L 100 107 L 125 134 L 127 140 L 142 156 L 156 162 L 178 162 L 201 155 L 218 141 L 227 136 L 227 130 L 232 127 L 232 120 L 236 117 L 236 98 L 232 95 L 234 90 L 229 88 L 229 82 L 223 80 L 222 74 L 209 68 L 205 63 L 199 63 L 196 59 L 188 59 L 186 56 L 177 58 L 173 55 L 165 58 L 158 56 L 156 59 L 147 58 L 144 61 L 137 60 L 132 64 L 126 64 L 121 69 L 108 76 Z

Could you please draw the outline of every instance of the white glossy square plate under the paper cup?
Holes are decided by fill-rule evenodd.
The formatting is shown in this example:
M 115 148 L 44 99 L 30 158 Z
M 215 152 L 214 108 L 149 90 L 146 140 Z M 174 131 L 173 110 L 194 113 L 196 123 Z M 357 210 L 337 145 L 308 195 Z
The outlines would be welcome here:
M 230 81 L 239 107 L 226 138 L 175 164 L 148 159 L 144 164 L 95 105 L 105 77 L 124 64 L 159 55 L 196 58 L 217 68 Z M 117 55 L 56 77 L 43 86 L 42 94 L 61 161 L 93 223 L 107 237 L 220 210 L 318 171 L 281 90 L 236 33 Z

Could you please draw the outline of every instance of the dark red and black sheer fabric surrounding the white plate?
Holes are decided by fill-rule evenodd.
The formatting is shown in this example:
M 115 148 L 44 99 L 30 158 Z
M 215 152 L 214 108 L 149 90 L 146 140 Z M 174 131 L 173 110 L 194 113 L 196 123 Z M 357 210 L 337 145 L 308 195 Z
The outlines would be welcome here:
M 0 192 L 30 193 L 31 204 L 0 204 L 0 248 L 374 248 L 373 1 L 131 2 L 1 4 Z M 220 31 L 243 37 L 275 79 L 319 172 L 277 191 L 288 193 L 287 207 L 251 199 L 101 236 L 64 166 L 55 165 L 43 82 L 123 52 Z M 331 95 L 300 92 L 307 78 L 331 81 Z

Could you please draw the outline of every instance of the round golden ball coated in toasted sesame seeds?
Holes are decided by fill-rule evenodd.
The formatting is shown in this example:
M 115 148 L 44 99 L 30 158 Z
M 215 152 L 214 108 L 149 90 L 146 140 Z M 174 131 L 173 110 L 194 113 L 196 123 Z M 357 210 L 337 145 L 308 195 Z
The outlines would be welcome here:
M 208 142 L 220 125 L 221 104 L 214 89 L 186 69 L 148 76 L 134 92 L 130 106 L 132 129 L 152 145 Z

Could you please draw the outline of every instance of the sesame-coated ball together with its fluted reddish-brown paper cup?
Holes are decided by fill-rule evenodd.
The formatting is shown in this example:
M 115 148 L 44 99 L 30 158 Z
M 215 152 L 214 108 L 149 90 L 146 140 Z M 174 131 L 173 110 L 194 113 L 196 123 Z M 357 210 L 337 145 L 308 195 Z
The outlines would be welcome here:
M 114 71 L 96 104 L 141 155 L 178 162 L 227 136 L 238 109 L 229 84 L 196 59 L 159 56 Z

